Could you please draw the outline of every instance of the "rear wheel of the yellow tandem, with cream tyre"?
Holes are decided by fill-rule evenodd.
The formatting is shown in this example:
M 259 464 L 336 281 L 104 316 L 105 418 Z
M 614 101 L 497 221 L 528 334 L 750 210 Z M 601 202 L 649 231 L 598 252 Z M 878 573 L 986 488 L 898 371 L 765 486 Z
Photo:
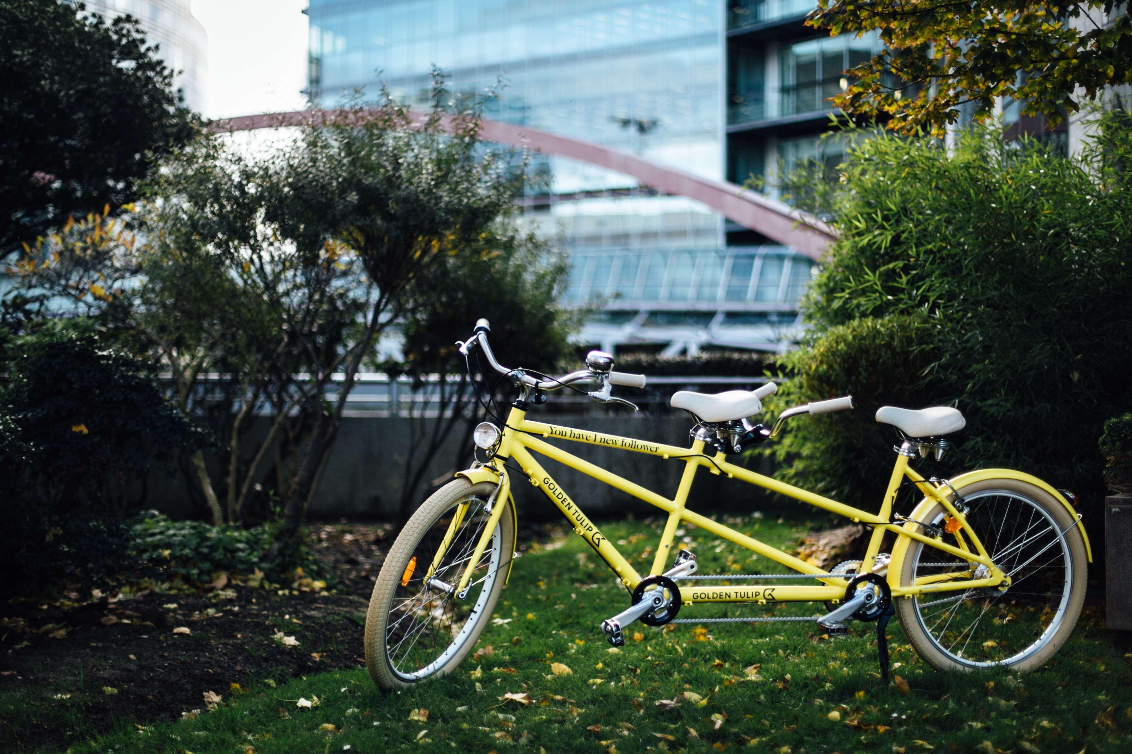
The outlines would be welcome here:
M 1010 588 L 926 592 L 893 599 L 920 657 L 941 670 L 1040 667 L 1069 639 L 1084 601 L 1087 557 L 1074 518 L 1057 499 L 1017 479 L 985 479 L 960 491 L 966 518 Z M 936 504 L 921 520 L 943 527 Z M 943 540 L 960 546 L 957 534 Z M 969 543 L 968 543 L 969 544 Z M 904 556 L 900 584 L 980 579 L 961 558 L 920 541 Z M 934 577 L 934 578 L 933 578 Z

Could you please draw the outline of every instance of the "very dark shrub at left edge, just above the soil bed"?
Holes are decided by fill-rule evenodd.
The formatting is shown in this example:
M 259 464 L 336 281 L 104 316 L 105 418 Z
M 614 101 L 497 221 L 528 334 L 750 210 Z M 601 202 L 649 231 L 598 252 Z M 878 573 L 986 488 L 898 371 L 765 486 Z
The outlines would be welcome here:
M 5 343 L 0 597 L 105 588 L 130 570 L 128 485 L 200 441 L 144 364 L 75 330 Z

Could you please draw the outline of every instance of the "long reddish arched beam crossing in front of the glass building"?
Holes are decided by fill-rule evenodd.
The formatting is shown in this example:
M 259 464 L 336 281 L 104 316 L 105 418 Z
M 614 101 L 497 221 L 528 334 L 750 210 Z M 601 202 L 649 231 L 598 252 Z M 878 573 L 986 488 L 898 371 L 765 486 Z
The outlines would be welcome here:
M 242 115 L 214 121 L 211 129 L 214 131 L 250 131 L 263 128 L 300 125 L 314 118 L 333 119 L 341 112 L 336 110 L 303 110 L 290 113 Z M 445 128 L 449 121 L 451 116 L 445 116 Z M 814 216 L 792 209 L 782 202 L 766 199 L 753 191 L 747 191 L 743 187 L 658 165 L 599 144 L 499 121 L 481 121 L 479 136 L 484 141 L 535 149 L 548 155 L 569 157 L 599 165 L 631 175 L 637 179 L 642 185 L 664 193 L 695 199 L 743 227 L 757 231 L 783 245 L 792 246 L 814 260 L 822 259 L 826 246 L 837 237 L 830 226 Z

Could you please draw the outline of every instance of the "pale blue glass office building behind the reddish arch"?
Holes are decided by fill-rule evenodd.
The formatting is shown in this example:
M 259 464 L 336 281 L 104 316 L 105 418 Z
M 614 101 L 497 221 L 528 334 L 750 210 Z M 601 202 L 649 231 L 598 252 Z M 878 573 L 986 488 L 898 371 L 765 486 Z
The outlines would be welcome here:
M 310 0 L 309 88 L 321 106 L 380 83 L 426 104 L 432 66 L 458 95 L 501 81 L 486 118 L 727 177 L 721 0 Z M 627 175 L 539 156 L 525 215 L 573 260 L 567 298 L 603 303 L 583 339 L 696 353 L 779 348 L 813 262 L 765 239 L 728 248 L 704 205 Z

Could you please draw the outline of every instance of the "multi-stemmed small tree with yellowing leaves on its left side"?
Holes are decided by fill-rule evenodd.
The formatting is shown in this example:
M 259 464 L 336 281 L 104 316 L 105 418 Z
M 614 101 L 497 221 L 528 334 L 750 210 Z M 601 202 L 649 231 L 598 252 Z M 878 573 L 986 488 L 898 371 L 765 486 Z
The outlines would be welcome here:
M 188 471 L 220 526 L 242 518 L 266 459 L 289 486 L 288 458 L 374 288 L 335 244 L 310 253 L 282 240 L 264 222 L 271 192 L 254 190 L 269 176 L 222 137 L 199 138 L 164 168 L 149 188 L 157 199 L 130 205 L 126 219 L 101 213 L 68 222 L 15 270 L 24 291 L 69 300 L 71 311 L 171 373 L 182 414 L 222 439 L 215 484 L 199 449 Z M 228 375 L 218 396 L 200 382 L 207 372 Z M 249 443 L 265 402 L 268 431 Z

